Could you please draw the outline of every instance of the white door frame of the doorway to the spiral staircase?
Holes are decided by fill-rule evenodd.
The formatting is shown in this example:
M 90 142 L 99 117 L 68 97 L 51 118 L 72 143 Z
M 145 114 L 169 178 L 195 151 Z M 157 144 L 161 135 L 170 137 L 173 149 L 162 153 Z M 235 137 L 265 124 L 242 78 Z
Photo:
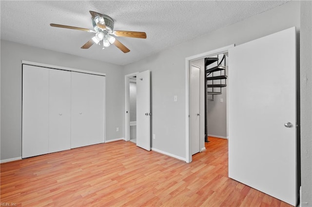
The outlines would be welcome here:
M 228 52 L 228 50 L 234 47 L 235 44 L 231 44 L 222 48 L 218 48 L 212 51 L 203 52 L 200 54 L 196 54 L 193 56 L 189 56 L 185 58 L 185 155 L 186 162 L 192 162 L 192 155 L 190 150 L 190 72 L 191 72 L 191 61 L 198 60 L 201 58 L 205 58 L 207 56 L 212 56 L 216 54 L 220 54 L 223 52 Z M 201 84 L 201 89 L 204 89 L 204 84 Z M 228 104 L 227 104 L 228 110 Z M 205 111 L 202 111 L 200 108 L 200 114 L 204 114 Z M 227 113 L 228 114 L 228 113 Z M 200 119 L 200 127 L 204 126 L 205 121 L 201 121 Z

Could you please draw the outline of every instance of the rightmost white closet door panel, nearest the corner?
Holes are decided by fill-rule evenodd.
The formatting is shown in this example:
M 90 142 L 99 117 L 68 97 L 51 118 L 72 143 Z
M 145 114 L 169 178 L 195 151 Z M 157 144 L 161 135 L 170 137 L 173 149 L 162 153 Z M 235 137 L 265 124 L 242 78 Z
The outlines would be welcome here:
M 105 76 L 89 75 L 89 145 L 104 142 Z

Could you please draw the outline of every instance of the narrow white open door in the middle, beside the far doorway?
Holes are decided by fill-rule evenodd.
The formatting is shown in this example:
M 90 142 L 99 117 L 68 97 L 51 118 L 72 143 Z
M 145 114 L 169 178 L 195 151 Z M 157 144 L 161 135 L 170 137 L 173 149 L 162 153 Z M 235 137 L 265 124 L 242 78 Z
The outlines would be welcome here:
M 137 146 L 151 150 L 150 70 L 137 74 Z

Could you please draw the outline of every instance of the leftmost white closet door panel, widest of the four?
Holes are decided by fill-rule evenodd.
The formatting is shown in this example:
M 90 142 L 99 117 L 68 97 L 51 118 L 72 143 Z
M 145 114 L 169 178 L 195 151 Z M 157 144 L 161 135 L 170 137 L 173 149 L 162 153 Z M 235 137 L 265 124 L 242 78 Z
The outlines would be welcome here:
M 49 69 L 23 65 L 22 158 L 48 153 Z

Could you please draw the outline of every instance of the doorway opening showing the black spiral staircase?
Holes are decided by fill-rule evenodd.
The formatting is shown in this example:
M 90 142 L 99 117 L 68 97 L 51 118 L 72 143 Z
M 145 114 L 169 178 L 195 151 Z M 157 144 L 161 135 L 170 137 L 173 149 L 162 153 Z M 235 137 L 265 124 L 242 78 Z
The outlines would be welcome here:
M 191 61 L 190 70 L 190 151 L 206 150 L 209 137 L 227 138 L 228 52 Z M 204 85 L 204 90 L 200 87 Z M 203 109 L 204 108 L 204 109 Z M 200 113 L 204 111 L 204 113 Z M 204 122 L 204 127 L 200 126 Z

